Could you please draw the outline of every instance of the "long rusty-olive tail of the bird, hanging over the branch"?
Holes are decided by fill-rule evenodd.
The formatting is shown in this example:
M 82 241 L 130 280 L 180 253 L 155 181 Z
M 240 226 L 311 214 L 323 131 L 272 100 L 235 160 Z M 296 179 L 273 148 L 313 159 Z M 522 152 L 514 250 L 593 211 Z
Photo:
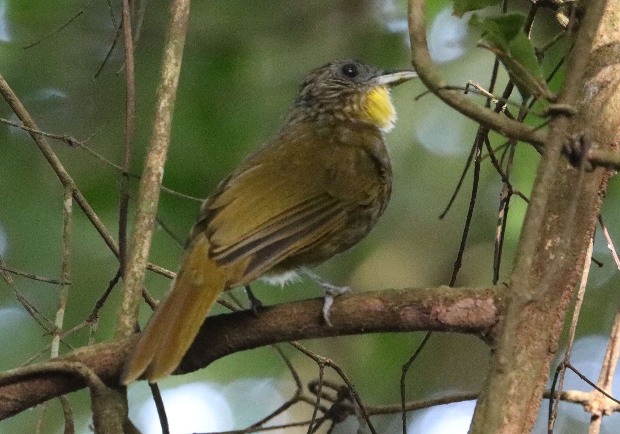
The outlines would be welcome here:
M 125 364 L 122 384 L 140 376 L 154 383 L 179 366 L 226 285 L 224 270 L 209 258 L 208 252 L 205 236 L 195 239 L 188 249 L 170 295 L 151 317 Z

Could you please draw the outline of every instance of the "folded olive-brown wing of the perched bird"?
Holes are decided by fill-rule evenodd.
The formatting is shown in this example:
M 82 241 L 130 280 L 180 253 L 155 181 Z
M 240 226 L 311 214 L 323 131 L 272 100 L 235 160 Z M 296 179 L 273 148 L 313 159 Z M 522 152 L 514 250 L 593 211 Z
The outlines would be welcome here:
M 339 232 L 373 198 L 376 167 L 363 149 L 308 135 L 286 146 L 294 154 L 285 162 L 277 142 L 260 149 L 201 210 L 193 236 L 206 234 L 211 257 L 222 265 L 248 261 L 236 285 Z

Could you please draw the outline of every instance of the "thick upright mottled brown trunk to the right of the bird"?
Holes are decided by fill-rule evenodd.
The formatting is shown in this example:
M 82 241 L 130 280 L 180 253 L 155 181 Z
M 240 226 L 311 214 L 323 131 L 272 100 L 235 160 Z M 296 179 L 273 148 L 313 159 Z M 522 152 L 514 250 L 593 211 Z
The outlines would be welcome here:
M 497 348 L 470 434 L 528 433 L 538 414 L 549 366 L 611 175 L 603 169 L 585 174 L 570 167 L 560 155 L 572 133 L 589 133 L 603 149 L 613 149 L 609 145 L 614 143 L 620 112 L 616 105 L 611 115 L 608 102 L 614 94 L 618 98 L 618 86 L 609 82 L 617 84 L 618 78 L 606 76 L 611 63 L 605 64 L 596 50 L 591 51 L 605 4 L 606 0 L 587 3 L 570 56 L 559 103 L 578 103 L 578 115 L 570 120 L 559 115 L 551 124 L 511 274 L 511 301 L 499 327 Z M 611 0 L 609 7 L 617 13 L 620 2 Z

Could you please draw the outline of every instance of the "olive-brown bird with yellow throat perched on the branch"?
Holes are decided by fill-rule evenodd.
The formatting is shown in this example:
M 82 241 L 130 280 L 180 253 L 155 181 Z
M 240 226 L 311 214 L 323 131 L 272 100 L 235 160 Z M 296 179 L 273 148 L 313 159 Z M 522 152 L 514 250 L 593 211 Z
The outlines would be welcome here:
M 325 291 L 311 268 L 373 229 L 392 191 L 384 133 L 396 110 L 391 88 L 415 71 L 385 71 L 353 59 L 312 70 L 272 139 L 250 153 L 202 203 L 169 296 L 141 334 L 121 376 L 155 383 L 179 365 L 219 294 L 261 278 L 285 283 L 300 274 Z M 321 318 L 317 318 L 321 321 Z

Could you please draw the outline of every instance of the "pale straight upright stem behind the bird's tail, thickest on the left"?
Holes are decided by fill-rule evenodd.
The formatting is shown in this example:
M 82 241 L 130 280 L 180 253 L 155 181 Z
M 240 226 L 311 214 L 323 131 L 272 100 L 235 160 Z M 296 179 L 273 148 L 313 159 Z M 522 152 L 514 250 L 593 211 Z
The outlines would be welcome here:
M 119 337 L 133 333 L 138 316 L 138 302 L 144 281 L 144 271 L 148 263 L 159 190 L 170 142 L 170 127 L 179 83 L 189 7 L 189 0 L 173 0 L 170 5 L 170 24 L 167 30 L 161 78 L 157 88 L 153 131 L 144 163 L 143 177 L 140 180 L 138 212 L 131 238 L 131 253 L 125 272 L 123 302 L 117 322 L 117 336 Z

